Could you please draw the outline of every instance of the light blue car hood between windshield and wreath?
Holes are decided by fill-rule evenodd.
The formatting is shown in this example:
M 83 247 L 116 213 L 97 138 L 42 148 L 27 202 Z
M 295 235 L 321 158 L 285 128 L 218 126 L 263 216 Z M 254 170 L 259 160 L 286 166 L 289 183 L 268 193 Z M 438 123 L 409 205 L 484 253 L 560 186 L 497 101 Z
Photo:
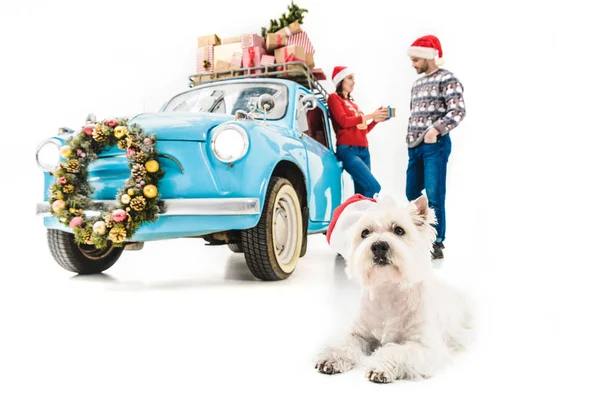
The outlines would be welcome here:
M 203 142 L 210 129 L 233 120 L 233 115 L 161 112 L 137 115 L 130 124 L 140 125 L 146 134 L 156 134 L 158 140 Z

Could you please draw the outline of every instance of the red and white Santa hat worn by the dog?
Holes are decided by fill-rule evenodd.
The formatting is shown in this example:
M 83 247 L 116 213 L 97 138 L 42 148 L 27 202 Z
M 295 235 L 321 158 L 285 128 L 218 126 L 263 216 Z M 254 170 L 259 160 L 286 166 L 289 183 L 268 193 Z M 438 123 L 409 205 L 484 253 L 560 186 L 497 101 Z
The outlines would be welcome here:
M 333 251 L 346 258 L 350 244 L 350 228 L 366 210 L 376 203 L 375 199 L 355 194 L 333 211 L 333 219 L 327 229 L 327 243 Z

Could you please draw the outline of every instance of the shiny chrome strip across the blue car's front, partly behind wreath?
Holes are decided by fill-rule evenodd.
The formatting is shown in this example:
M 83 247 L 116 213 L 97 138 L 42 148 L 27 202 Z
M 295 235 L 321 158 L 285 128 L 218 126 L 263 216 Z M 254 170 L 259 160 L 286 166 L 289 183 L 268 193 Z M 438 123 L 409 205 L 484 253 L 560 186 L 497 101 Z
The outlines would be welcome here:
M 94 201 L 99 206 L 114 207 L 116 200 Z M 211 198 L 159 200 L 159 216 L 171 215 L 256 215 L 260 214 L 258 198 Z M 50 203 L 36 204 L 37 216 L 50 217 Z M 98 210 L 86 210 L 86 216 L 99 215 Z

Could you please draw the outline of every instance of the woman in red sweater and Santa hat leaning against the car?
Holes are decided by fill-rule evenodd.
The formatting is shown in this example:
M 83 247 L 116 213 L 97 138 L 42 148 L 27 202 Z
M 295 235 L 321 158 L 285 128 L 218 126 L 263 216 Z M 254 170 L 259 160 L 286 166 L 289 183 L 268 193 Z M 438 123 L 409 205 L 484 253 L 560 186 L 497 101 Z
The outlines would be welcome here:
M 332 74 L 335 93 L 327 98 L 329 116 L 336 134 L 337 158 L 354 181 L 354 193 L 373 197 L 381 185 L 371 173 L 371 154 L 367 133 L 385 121 L 388 111 L 379 108 L 364 115 L 351 96 L 354 89 L 354 73 L 348 67 L 335 67 Z M 371 120 L 367 124 L 367 121 Z

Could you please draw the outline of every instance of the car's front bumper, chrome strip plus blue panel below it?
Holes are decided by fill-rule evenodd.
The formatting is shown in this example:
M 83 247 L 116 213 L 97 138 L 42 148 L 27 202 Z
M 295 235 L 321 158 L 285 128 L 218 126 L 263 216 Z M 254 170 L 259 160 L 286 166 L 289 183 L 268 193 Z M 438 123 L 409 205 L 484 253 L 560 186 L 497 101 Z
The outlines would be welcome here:
M 115 201 L 96 201 L 103 206 L 116 205 Z M 168 199 L 159 201 L 158 220 L 142 224 L 129 241 L 153 241 L 198 237 L 215 232 L 249 229 L 260 219 L 260 200 L 257 198 Z M 85 212 L 91 217 L 100 211 Z M 50 205 L 39 203 L 36 214 L 44 217 L 48 229 L 64 232 L 72 230 L 50 214 Z

